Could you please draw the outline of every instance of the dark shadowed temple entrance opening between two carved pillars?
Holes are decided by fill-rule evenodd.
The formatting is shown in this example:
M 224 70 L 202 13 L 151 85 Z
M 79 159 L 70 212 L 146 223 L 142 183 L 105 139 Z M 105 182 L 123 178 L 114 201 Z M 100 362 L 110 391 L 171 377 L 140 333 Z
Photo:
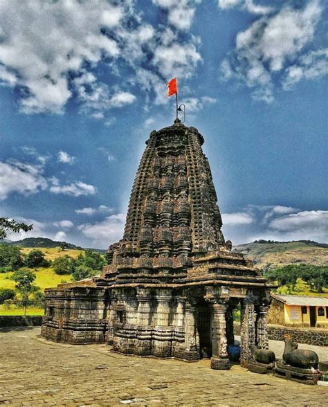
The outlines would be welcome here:
M 199 357 L 212 356 L 211 314 L 208 303 L 202 299 L 197 306 L 197 331 L 199 333 Z

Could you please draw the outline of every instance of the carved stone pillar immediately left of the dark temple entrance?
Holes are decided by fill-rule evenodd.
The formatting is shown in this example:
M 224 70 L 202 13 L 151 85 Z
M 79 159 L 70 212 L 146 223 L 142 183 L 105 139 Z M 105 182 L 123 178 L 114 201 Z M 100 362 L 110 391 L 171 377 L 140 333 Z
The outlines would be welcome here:
M 185 352 L 183 359 L 199 360 L 199 338 L 196 329 L 196 300 L 188 298 L 185 301 Z

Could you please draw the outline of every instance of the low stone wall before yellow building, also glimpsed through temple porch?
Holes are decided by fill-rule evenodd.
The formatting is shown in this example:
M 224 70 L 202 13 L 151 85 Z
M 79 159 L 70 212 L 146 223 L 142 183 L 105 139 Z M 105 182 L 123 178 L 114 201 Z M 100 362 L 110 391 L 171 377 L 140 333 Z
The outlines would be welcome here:
M 240 335 L 240 323 L 234 323 L 234 334 Z M 308 345 L 328 346 L 328 329 L 295 328 L 282 325 L 268 325 L 268 338 L 273 341 L 284 341 L 284 335 L 289 334 L 298 343 Z

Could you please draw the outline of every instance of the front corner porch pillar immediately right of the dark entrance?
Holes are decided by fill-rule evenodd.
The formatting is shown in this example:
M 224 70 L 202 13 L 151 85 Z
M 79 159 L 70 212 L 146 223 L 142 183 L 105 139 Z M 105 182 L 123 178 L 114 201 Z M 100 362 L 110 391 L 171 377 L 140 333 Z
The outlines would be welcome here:
M 226 300 L 212 301 L 212 358 L 210 367 L 215 370 L 230 369 L 226 337 Z

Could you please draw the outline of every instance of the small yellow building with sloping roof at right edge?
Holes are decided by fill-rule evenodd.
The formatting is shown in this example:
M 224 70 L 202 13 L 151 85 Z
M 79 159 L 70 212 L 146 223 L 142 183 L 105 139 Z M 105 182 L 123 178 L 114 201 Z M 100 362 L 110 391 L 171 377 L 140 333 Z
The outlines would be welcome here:
M 328 328 L 328 297 L 292 296 L 271 293 L 268 323 Z

